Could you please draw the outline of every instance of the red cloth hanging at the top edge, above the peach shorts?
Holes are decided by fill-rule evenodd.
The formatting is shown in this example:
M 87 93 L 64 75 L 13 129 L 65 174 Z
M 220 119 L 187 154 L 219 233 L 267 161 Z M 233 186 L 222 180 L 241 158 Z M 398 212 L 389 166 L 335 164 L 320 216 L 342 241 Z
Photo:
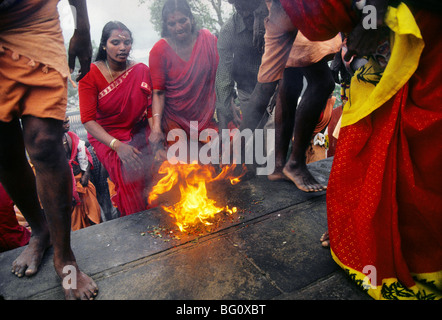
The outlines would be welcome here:
M 311 41 L 350 32 L 357 22 L 352 0 L 280 0 L 296 29 Z

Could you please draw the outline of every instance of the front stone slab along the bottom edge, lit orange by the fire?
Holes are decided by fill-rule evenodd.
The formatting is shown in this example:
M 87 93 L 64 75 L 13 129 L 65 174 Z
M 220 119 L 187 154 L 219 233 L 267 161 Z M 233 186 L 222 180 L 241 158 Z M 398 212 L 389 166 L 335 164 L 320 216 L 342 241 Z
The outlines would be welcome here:
M 270 299 L 280 294 L 224 237 L 199 240 L 95 275 L 102 300 Z M 34 299 L 62 299 L 51 290 Z

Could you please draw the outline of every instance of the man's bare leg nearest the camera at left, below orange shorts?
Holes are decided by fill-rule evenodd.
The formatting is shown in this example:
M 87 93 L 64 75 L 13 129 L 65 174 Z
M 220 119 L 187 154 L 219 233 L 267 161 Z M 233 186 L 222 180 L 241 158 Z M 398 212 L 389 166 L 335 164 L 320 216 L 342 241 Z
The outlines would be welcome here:
M 97 285 L 77 266 L 71 250 L 72 176 L 62 145 L 62 121 L 24 116 L 23 136 L 26 150 L 35 167 L 37 190 L 45 209 L 54 247 L 54 266 L 63 279 L 68 274 L 64 267 L 76 272 L 76 288 L 64 286 L 67 299 L 92 299 Z

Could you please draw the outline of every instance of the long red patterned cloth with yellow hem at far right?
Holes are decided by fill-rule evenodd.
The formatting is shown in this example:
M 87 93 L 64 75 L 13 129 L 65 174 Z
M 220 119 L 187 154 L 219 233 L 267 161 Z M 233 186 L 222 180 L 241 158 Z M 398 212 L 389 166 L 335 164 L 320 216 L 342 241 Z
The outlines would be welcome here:
M 327 190 L 331 248 L 346 266 L 413 286 L 442 270 L 440 17 L 416 15 L 420 65 L 390 101 L 341 129 Z

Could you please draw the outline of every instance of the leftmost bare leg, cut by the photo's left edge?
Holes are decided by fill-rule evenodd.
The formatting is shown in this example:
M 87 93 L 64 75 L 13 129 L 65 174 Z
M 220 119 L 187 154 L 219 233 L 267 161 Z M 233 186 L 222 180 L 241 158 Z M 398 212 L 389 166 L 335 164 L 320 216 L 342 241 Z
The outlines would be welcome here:
M 18 277 L 31 276 L 38 270 L 50 237 L 18 120 L 0 122 L 0 180 L 32 229 L 29 244 L 13 262 L 12 272 Z

